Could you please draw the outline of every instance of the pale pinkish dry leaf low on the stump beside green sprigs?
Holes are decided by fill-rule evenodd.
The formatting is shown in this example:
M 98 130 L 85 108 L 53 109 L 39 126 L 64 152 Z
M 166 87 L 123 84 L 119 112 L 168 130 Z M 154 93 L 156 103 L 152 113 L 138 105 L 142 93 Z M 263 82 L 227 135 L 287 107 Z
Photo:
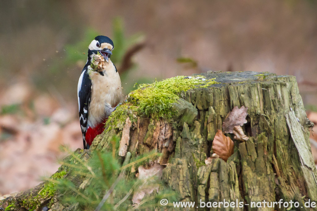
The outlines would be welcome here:
M 164 166 L 159 163 L 155 163 L 151 168 L 146 169 L 143 166 L 139 166 L 138 179 L 144 180 L 143 184 L 139 186 L 138 190 L 134 192 L 132 202 L 139 204 L 146 194 L 151 194 L 154 190 L 159 191 L 159 184 L 148 183 L 148 179 L 153 176 L 161 178 L 163 174 Z

